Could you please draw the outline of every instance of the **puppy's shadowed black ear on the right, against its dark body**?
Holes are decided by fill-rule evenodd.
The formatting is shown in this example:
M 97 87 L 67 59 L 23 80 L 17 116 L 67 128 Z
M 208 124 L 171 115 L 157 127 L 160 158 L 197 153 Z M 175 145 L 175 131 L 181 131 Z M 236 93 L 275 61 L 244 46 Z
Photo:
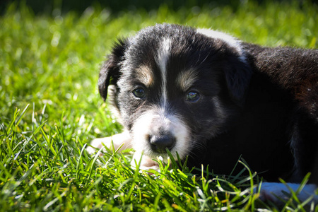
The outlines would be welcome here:
M 242 106 L 245 101 L 245 94 L 252 77 L 252 69 L 245 59 L 233 59 L 225 69 L 225 81 L 228 86 L 231 98 L 237 105 Z

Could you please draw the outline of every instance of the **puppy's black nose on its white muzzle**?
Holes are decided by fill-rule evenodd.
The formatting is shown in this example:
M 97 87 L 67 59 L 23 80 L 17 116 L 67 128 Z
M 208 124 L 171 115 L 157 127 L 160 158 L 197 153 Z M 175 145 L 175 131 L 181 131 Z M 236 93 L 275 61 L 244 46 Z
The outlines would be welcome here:
M 175 136 L 170 134 L 150 136 L 151 149 L 157 153 L 166 153 L 166 148 L 171 151 L 175 146 Z

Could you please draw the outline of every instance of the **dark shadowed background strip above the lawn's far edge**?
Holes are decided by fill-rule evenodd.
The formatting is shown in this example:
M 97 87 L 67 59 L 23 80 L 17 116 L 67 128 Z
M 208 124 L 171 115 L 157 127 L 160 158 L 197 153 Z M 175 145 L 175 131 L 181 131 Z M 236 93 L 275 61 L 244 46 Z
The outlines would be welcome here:
M 30 8 L 33 9 L 35 14 L 46 13 L 52 14 L 54 8 L 61 9 L 62 13 L 66 13 L 67 11 L 77 11 L 79 13 L 83 12 L 88 6 L 101 6 L 107 7 L 112 12 L 116 13 L 118 11 L 129 11 L 134 9 L 145 9 L 146 11 L 151 11 L 152 9 L 158 8 L 162 4 L 166 4 L 169 8 L 177 10 L 178 8 L 192 8 L 194 6 L 205 7 L 205 6 L 224 6 L 228 5 L 235 10 L 237 5 L 242 3 L 242 1 L 251 1 L 251 0 L 0 0 L 0 13 L 4 13 L 6 11 L 6 7 L 15 2 L 17 5 L 26 4 Z M 253 1 L 253 0 L 252 0 Z M 259 4 L 266 3 L 266 0 L 254 0 Z M 281 0 L 290 2 L 290 0 Z M 306 0 L 298 0 L 300 6 Z M 318 0 L 309 0 L 317 4 Z

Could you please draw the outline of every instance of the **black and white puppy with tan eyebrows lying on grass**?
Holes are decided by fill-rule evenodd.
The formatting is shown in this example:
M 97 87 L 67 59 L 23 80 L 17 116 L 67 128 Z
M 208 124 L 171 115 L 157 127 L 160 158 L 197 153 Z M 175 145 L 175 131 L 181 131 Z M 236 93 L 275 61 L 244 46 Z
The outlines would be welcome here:
M 134 148 L 141 168 L 189 155 L 188 165 L 229 174 L 242 155 L 269 182 L 300 182 L 306 199 L 318 184 L 318 50 L 260 47 L 213 30 L 155 25 L 112 49 L 100 95 L 124 132 L 95 139 Z M 107 91 L 108 90 L 108 91 Z M 133 161 L 134 164 L 134 161 Z M 293 189 L 298 184 L 289 184 Z M 266 183 L 264 196 L 283 196 Z M 317 201 L 317 196 L 314 196 Z

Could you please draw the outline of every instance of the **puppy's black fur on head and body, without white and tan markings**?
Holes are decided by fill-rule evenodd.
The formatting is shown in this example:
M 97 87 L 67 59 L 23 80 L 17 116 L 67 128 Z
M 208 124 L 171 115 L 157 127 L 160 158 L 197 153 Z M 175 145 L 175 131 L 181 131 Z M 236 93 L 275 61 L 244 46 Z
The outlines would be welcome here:
M 209 165 L 218 174 L 229 174 L 237 159 L 244 158 L 252 170 L 266 179 L 278 177 L 300 181 L 313 172 L 318 184 L 318 51 L 311 49 L 267 48 L 242 43 L 245 61 L 237 50 L 218 39 L 180 25 L 155 25 L 136 36 L 119 41 L 102 66 L 98 86 L 104 100 L 107 87 L 113 90 L 114 106 L 125 128 L 160 100 L 160 69 L 155 62 L 158 40 L 172 39 L 167 63 L 168 79 L 185 69 L 198 70 L 198 104 L 179 100 L 175 81 L 168 99 L 171 112 L 181 114 L 191 126 L 192 148 L 189 165 Z M 131 96 L 139 83 L 134 69 L 151 67 L 154 84 L 146 101 Z M 220 117 L 213 97 L 226 112 Z

